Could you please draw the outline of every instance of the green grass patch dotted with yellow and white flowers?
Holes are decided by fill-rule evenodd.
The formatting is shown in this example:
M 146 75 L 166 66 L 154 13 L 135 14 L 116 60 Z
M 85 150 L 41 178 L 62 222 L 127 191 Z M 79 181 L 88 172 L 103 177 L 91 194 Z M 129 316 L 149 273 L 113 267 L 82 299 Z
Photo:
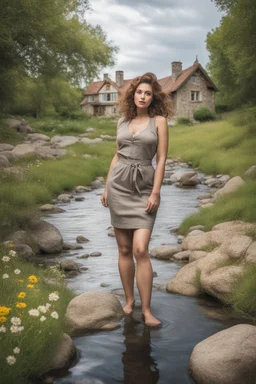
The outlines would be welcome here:
M 63 332 L 69 333 L 65 312 L 74 293 L 66 287 L 58 269 L 38 268 L 9 252 L 10 248 L 0 247 L 1 380 L 3 383 L 23 384 L 28 377 L 39 377 L 47 371 Z M 9 259 L 4 261 L 4 256 Z M 59 299 L 51 301 L 49 294 L 52 292 L 57 292 Z M 25 297 L 18 297 L 20 293 Z M 17 303 L 23 303 L 24 308 L 18 308 Z M 48 310 L 41 309 L 39 316 L 30 315 L 31 309 L 47 303 L 51 304 Z M 9 313 L 3 307 L 9 308 Z M 51 316 L 53 312 L 57 312 L 57 319 Z M 15 318 L 23 330 L 17 332 L 17 328 L 16 331 L 11 328 Z M 15 354 L 13 350 L 17 347 L 20 352 Z M 8 364 L 8 356 L 16 358 L 13 365 Z

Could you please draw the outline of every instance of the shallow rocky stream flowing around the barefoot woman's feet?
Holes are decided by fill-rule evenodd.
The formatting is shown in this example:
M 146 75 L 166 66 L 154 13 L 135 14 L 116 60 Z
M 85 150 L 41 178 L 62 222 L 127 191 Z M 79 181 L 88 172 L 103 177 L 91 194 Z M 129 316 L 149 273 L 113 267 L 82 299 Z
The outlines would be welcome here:
M 175 170 L 188 169 L 176 168 Z M 191 170 L 191 168 L 189 168 Z M 198 176 L 202 176 L 198 172 Z M 90 241 L 84 249 L 65 251 L 63 258 L 82 263 L 88 270 L 68 278 L 68 286 L 81 294 L 88 291 L 111 292 L 124 303 L 118 272 L 116 239 L 108 236 L 109 209 L 101 205 L 103 189 L 79 194 L 84 201 L 72 200 L 59 204 L 66 212 L 49 214 L 45 220 L 56 226 L 65 242 L 75 243 L 78 235 Z M 177 188 L 162 185 L 161 204 L 149 243 L 155 247 L 176 245 L 177 234 L 170 227 L 178 226 L 185 216 L 197 212 L 198 195 L 209 192 L 206 185 Z M 85 253 L 99 251 L 100 257 L 77 259 Z M 89 332 L 74 338 L 79 351 L 77 364 L 56 384 L 188 384 L 194 383 L 188 364 L 194 346 L 214 333 L 234 325 L 225 318 L 220 304 L 210 298 L 191 298 L 165 291 L 166 283 L 183 266 L 169 261 L 151 259 L 154 277 L 151 308 L 163 326 L 149 329 L 141 320 L 141 305 L 137 289 L 133 317 L 121 321 L 113 331 Z M 101 286 L 103 283 L 104 286 Z

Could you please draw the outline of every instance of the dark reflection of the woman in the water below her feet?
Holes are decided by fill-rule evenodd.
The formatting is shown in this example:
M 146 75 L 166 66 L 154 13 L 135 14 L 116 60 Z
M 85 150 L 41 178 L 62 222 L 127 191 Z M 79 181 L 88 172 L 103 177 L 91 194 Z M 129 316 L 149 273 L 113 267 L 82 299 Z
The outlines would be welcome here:
M 132 316 L 124 321 L 123 335 L 126 350 L 122 354 L 125 384 L 156 384 L 159 380 L 159 369 L 151 356 L 150 328 L 141 324 Z

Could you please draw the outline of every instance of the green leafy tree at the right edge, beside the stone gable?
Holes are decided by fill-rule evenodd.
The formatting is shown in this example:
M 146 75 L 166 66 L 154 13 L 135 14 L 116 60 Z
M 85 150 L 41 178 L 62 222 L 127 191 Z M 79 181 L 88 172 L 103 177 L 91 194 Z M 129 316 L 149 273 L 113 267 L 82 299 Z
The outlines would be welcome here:
M 225 11 L 221 24 L 207 35 L 209 69 L 233 104 L 256 102 L 256 2 L 214 0 Z

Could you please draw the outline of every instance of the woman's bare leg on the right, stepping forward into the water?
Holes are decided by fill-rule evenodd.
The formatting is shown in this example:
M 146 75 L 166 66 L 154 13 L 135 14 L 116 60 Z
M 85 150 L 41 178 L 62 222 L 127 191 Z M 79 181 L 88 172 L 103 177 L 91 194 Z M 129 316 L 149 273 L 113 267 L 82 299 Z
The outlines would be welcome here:
M 161 321 L 152 315 L 150 309 L 153 284 L 153 270 L 148 253 L 150 236 L 150 229 L 135 229 L 133 235 L 133 253 L 137 261 L 136 281 L 140 293 L 145 324 L 156 327 L 161 324 Z

